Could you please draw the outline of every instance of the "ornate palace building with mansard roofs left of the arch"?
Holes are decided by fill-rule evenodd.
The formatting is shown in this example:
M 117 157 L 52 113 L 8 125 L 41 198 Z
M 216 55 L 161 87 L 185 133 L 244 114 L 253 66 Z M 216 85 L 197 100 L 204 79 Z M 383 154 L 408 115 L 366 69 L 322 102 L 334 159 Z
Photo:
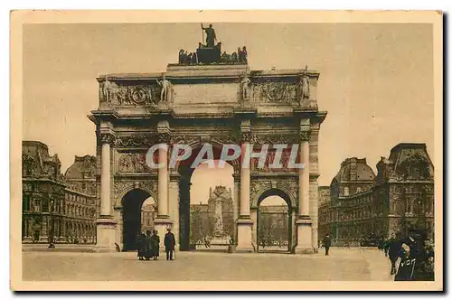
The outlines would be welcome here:
M 47 145 L 22 143 L 22 240 L 24 243 L 95 243 L 96 157 L 75 156 L 61 173 Z

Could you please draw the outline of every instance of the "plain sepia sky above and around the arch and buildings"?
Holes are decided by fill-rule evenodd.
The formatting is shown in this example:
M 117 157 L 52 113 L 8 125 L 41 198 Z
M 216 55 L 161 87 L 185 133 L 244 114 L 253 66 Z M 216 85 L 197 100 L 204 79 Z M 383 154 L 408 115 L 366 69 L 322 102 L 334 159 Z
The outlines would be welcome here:
M 207 23 L 204 23 L 207 25 Z M 319 135 L 319 185 L 347 157 L 375 165 L 399 143 L 426 143 L 433 160 L 432 26 L 414 23 L 212 23 L 222 49 L 245 45 L 251 70 L 320 72 L 317 102 L 328 112 Z M 95 155 L 101 73 L 164 72 L 194 51 L 199 23 L 25 24 L 24 140 L 58 154 Z M 192 198 L 233 186 L 231 173 L 197 170 Z

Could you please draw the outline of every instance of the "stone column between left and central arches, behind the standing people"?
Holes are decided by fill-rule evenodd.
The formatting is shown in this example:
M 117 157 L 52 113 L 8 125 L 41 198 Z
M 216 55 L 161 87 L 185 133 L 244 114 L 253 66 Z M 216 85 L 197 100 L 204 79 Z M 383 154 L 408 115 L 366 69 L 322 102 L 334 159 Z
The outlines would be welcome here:
M 158 199 L 157 199 L 157 218 L 155 219 L 155 230 L 159 236 L 164 236 L 167 228 L 173 226 L 168 214 L 168 152 L 170 151 L 168 143 L 170 141 L 170 128 L 168 121 L 160 121 L 157 125 L 158 142 L 163 147 L 158 149 Z M 162 245 L 162 243 L 161 243 Z

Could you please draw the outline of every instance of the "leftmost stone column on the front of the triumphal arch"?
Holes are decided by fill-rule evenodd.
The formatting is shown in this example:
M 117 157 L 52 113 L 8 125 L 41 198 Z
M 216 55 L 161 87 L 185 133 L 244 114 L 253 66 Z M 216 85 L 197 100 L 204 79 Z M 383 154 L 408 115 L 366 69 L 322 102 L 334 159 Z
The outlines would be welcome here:
M 99 143 L 100 154 L 100 216 L 96 220 L 97 239 L 96 252 L 116 251 L 116 225 L 117 221 L 111 216 L 111 193 L 110 193 L 110 144 L 114 141 L 114 136 L 109 128 L 100 128 Z

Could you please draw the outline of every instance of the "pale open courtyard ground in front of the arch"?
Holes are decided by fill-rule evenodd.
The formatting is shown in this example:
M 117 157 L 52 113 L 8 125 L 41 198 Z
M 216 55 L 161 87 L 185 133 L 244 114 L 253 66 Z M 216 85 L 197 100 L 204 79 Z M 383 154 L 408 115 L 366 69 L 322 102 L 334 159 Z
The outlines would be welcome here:
M 392 280 L 376 249 L 332 248 L 326 257 L 280 253 L 178 252 L 174 261 L 137 254 L 23 252 L 24 280 Z

